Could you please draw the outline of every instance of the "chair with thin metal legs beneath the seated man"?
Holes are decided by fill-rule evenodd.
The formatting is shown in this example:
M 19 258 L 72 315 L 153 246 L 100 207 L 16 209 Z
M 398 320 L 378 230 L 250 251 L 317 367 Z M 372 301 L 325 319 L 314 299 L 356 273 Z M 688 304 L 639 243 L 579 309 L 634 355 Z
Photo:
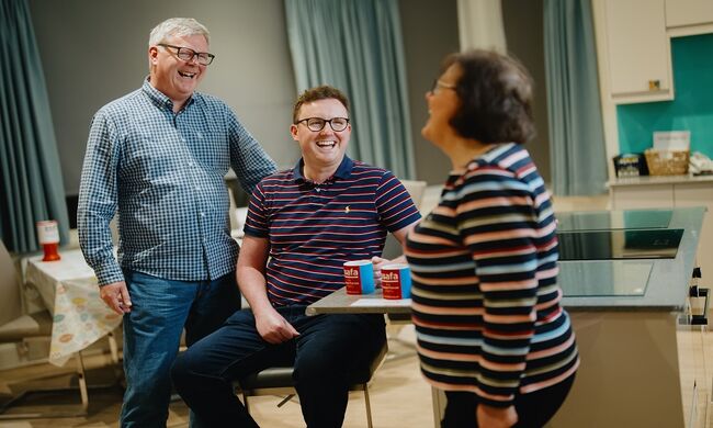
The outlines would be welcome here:
M 384 362 L 384 358 L 388 352 L 388 345 L 384 346 L 372 360 L 372 363 L 365 370 L 351 373 L 349 391 L 363 391 L 364 403 L 366 405 L 366 424 L 372 428 L 372 408 L 369 401 L 369 382 L 376 369 Z M 292 367 L 274 367 L 268 368 L 261 372 L 250 374 L 237 382 L 237 386 L 242 394 L 242 403 L 245 408 L 250 412 L 248 397 L 258 395 L 286 395 L 284 399 L 278 403 L 278 407 L 282 407 L 292 397 L 295 396 L 295 382 L 292 378 L 294 368 Z

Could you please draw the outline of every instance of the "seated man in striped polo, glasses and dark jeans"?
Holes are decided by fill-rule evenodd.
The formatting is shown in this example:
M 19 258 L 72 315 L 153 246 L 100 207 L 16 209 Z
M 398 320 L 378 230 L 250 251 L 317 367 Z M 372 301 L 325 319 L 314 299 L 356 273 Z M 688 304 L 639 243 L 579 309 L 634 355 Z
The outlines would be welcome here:
M 392 172 L 344 156 L 351 125 L 339 90 L 305 91 L 290 131 L 302 159 L 256 188 L 238 258 L 252 311 L 235 313 L 173 364 L 176 387 L 202 426 L 256 427 L 233 381 L 294 364 L 307 426 L 340 427 L 349 373 L 386 340 L 382 315 L 306 316 L 305 308 L 344 285 L 344 261 L 372 259 L 378 277 L 386 232 L 403 241 L 418 210 Z

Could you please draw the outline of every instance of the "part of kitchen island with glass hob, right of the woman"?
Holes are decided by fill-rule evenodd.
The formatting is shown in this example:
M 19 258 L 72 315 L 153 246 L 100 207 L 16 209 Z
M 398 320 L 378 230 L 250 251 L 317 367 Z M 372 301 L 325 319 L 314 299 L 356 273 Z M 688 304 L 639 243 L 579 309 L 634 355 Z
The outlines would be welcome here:
M 704 207 L 684 207 L 558 216 L 558 229 L 683 234 L 675 258 L 559 262 L 581 365 L 548 427 L 703 427 L 711 385 L 700 346 L 706 329 L 681 320 L 704 214 Z

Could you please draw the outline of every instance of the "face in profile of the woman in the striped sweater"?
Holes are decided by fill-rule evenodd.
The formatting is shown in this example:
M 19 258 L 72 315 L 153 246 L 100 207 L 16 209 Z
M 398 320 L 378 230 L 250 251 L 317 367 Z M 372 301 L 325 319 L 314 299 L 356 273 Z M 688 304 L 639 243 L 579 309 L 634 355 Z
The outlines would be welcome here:
M 463 71 L 457 64 L 451 65 L 439 77 L 434 90 L 426 93 L 429 117 L 421 128 L 421 135 L 438 146 L 456 135 L 450 121 L 461 108 L 455 86 L 462 75 Z

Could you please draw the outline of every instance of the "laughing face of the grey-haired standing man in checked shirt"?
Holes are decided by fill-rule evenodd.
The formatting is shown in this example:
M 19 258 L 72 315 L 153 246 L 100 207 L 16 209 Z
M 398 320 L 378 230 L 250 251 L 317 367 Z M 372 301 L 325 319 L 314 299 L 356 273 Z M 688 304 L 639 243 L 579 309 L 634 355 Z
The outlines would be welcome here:
M 208 52 L 208 42 L 203 35 L 170 36 L 163 44 Z M 171 47 L 151 46 L 148 56 L 151 85 L 173 101 L 173 111 L 180 110 L 203 80 L 207 67 L 200 65 L 195 57 L 190 61 L 179 59 Z

